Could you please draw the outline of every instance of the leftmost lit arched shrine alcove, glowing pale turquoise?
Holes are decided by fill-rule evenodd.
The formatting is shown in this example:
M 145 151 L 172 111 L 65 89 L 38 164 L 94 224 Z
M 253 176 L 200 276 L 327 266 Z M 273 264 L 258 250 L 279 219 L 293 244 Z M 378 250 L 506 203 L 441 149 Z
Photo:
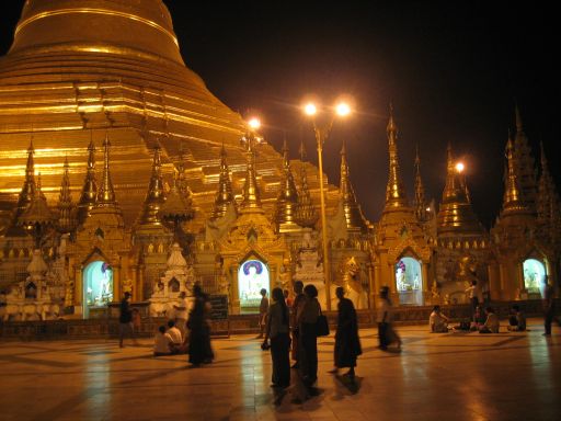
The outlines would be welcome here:
M 113 301 L 113 270 L 103 261 L 95 261 L 83 271 L 83 317 Z M 92 315 L 93 316 L 93 315 Z

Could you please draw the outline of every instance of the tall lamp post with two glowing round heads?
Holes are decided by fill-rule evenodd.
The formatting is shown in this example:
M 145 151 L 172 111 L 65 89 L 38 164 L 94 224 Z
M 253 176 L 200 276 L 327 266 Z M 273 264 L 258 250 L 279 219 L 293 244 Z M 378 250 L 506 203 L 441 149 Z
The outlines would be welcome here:
M 330 269 L 329 269 L 329 255 L 328 255 L 328 230 L 325 223 L 325 197 L 323 193 L 323 144 L 328 139 L 331 128 L 333 127 L 333 122 L 335 116 L 337 117 L 346 117 L 351 114 L 351 106 L 346 102 L 340 102 L 335 105 L 333 113 L 328 117 L 327 121 L 323 121 L 322 124 L 318 123 L 316 116 L 319 113 L 318 106 L 313 102 L 308 102 L 304 105 L 304 113 L 312 118 L 313 123 L 313 133 L 316 134 L 316 141 L 318 147 L 318 171 L 320 179 L 320 214 L 321 214 L 321 235 L 323 242 L 323 276 L 325 282 L 325 301 L 328 310 L 331 310 L 331 280 L 330 280 Z

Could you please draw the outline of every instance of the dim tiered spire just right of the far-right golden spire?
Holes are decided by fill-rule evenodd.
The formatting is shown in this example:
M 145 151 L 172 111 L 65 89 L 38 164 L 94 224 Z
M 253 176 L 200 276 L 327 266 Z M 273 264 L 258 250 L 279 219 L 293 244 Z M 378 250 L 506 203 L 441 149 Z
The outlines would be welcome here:
M 514 171 L 518 179 L 518 186 L 523 202 L 533 212 L 536 209 L 537 181 L 534 157 L 529 146 L 528 137 L 524 132 L 520 110 L 516 104 L 516 136 L 514 138 Z

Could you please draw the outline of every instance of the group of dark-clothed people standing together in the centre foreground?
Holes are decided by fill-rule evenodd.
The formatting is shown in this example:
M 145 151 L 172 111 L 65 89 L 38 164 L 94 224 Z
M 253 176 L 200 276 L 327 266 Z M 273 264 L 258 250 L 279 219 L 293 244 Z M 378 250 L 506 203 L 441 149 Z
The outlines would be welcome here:
M 262 349 L 271 349 L 272 386 L 277 388 L 290 385 L 290 355 L 295 360 L 291 368 L 298 371 L 304 385 L 312 387 L 318 379 L 318 325 L 323 317 L 318 301 L 318 289 L 312 284 L 304 286 L 302 282 L 296 281 L 294 294 L 291 305 L 288 306 L 283 289 L 273 288 L 273 301 L 270 305 L 266 291 L 262 292 Z M 339 298 L 339 314 L 334 348 L 335 368 L 331 373 L 348 367 L 346 375 L 354 379 L 356 359 L 362 354 L 356 311 L 353 301 L 345 298 L 343 287 L 337 287 L 335 294 Z

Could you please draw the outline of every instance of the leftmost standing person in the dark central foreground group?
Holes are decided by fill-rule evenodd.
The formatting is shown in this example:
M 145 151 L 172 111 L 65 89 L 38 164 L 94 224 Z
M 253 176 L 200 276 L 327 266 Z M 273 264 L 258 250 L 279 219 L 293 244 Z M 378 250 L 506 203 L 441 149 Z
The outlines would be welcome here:
M 288 307 L 285 303 L 283 289 L 274 288 L 273 304 L 268 306 L 267 325 L 265 328 L 266 344 L 271 339 L 271 359 L 273 360 L 273 387 L 286 388 L 290 386 L 290 328 Z

